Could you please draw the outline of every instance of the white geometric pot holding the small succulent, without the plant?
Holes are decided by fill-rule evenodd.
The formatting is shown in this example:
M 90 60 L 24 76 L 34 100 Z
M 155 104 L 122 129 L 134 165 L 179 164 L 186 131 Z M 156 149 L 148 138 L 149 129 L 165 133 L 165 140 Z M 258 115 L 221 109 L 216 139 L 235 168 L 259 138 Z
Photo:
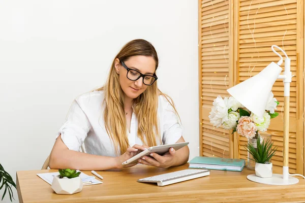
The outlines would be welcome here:
M 51 188 L 57 194 L 74 194 L 82 190 L 82 181 L 80 177 L 75 178 L 59 178 L 55 176 L 52 181 Z

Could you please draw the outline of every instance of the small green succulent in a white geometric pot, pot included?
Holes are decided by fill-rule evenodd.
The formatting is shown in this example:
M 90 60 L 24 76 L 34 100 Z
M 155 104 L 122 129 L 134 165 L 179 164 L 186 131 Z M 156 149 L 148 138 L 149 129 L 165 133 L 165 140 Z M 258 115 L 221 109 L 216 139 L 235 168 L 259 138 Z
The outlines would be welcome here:
M 82 180 L 79 177 L 81 172 L 75 170 L 59 169 L 59 175 L 55 176 L 52 181 L 52 189 L 57 194 L 74 194 L 82 190 Z

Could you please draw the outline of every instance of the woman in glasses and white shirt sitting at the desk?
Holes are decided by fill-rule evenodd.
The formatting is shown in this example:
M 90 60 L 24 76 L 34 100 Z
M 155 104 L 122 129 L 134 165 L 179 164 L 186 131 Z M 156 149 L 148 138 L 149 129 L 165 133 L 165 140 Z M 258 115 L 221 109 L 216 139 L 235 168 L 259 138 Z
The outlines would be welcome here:
M 50 154 L 50 168 L 108 170 L 148 146 L 185 142 L 172 100 L 157 87 L 158 56 L 145 40 L 127 43 L 104 87 L 74 100 Z M 79 152 L 84 143 L 87 153 Z M 139 151 L 140 152 L 140 151 Z M 152 153 L 138 163 L 170 167 L 188 161 L 189 148 Z

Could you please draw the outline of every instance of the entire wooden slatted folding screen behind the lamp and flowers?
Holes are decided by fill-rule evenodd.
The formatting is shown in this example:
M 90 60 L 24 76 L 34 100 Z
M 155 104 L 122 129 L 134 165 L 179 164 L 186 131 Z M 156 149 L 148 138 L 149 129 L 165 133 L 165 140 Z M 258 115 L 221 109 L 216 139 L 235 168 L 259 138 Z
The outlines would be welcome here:
M 199 3 L 200 155 L 246 159 L 246 139 L 209 122 L 212 102 L 229 96 L 226 89 L 258 74 L 279 57 L 271 45 L 282 47 L 291 58 L 289 172 L 304 174 L 303 0 L 202 0 Z M 281 52 L 280 52 L 281 53 Z M 284 68 L 284 64 L 282 65 Z M 273 86 L 280 101 L 277 118 L 268 131 L 278 151 L 275 170 L 283 163 L 283 81 Z M 233 153 L 234 152 L 234 153 Z

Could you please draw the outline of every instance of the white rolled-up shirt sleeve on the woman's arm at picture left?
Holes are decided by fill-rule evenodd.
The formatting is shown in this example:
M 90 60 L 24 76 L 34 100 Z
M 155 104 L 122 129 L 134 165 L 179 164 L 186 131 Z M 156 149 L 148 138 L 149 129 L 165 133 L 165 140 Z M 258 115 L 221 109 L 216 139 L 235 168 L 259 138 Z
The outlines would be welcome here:
M 91 124 L 86 114 L 77 100 L 74 100 L 67 115 L 66 122 L 57 132 L 56 139 L 59 134 L 62 134 L 61 137 L 65 145 L 70 150 L 79 151 L 90 128 Z

